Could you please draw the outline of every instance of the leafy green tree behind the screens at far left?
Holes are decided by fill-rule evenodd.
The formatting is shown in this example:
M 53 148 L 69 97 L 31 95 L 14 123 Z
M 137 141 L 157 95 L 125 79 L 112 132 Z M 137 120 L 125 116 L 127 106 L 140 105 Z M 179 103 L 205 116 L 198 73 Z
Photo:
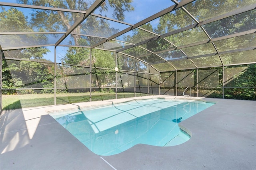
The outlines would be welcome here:
M 5 10 L 1 6 L 0 27 L 6 32 L 26 32 L 32 31 L 32 26 L 28 23 L 28 17 L 15 8 Z M 28 41 L 44 41 L 45 37 L 35 37 L 30 35 Z M 13 43 L 19 42 L 19 36 L 12 36 Z M 12 42 L 10 44 L 12 44 Z M 47 61 L 43 58 L 49 50 L 45 47 L 26 48 L 4 51 L 4 57 Z M 13 89 L 22 87 L 53 87 L 54 65 L 49 63 L 39 63 L 35 61 L 3 60 L 3 88 Z M 14 91 L 11 93 L 15 93 Z

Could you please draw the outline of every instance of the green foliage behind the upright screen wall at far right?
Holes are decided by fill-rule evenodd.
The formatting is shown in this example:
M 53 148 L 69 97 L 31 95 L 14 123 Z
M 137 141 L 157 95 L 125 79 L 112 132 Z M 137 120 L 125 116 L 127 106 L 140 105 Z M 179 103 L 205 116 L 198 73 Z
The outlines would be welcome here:
M 224 86 L 224 98 L 256 100 L 256 64 L 224 67 L 224 75 L 228 83 Z M 187 71 L 178 72 L 178 86 L 186 86 L 195 78 L 194 73 Z M 198 96 L 222 98 L 222 67 L 198 69 Z M 179 80 L 181 83 L 179 83 Z M 176 87 L 176 72 L 160 74 L 162 88 Z M 196 79 L 194 84 L 196 85 Z M 214 88 L 220 87 L 220 88 Z M 184 89 L 183 89 L 184 90 Z

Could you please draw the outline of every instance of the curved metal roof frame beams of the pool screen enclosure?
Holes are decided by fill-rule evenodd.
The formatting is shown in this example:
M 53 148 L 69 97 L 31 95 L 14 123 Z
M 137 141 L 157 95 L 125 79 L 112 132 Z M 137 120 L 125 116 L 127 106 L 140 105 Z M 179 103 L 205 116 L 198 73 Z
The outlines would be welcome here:
M 177 2 L 176 0 L 172 0 L 172 2 L 175 3 L 175 5 L 172 5 L 172 6 L 166 8 L 166 9 L 164 9 L 164 10 L 162 10 L 162 11 L 160 11 L 160 12 L 158 12 L 158 13 L 156 13 L 156 14 L 154 14 L 154 15 L 152 15 L 152 16 L 144 19 L 144 20 L 141 20 L 140 22 L 138 22 L 136 24 L 129 24 L 129 23 L 126 23 L 126 22 L 122 22 L 122 21 L 118 21 L 118 20 L 115 20 L 115 19 L 112 19 L 112 18 L 108 18 L 108 17 L 105 17 L 105 16 L 100 16 L 98 14 L 94 14 L 93 12 L 104 1 L 105 0 L 96 0 L 94 2 L 94 4 L 92 4 L 92 6 L 90 6 L 88 8 L 88 10 L 86 10 L 86 11 L 63 9 L 63 8 L 52 8 L 52 7 L 35 6 L 35 5 L 26 5 L 26 4 L 15 4 L 15 3 L 8 3 L 8 2 L 0 2 L 0 6 L 31 8 L 31 9 L 39 9 L 39 10 L 52 10 L 52 11 L 62 11 L 62 12 L 74 12 L 74 13 L 81 14 L 80 18 L 66 32 L 0 32 L 0 36 L 2 36 L 2 35 L 30 35 L 30 34 L 60 34 L 60 35 L 62 35 L 54 44 L 51 43 L 51 44 L 29 45 L 29 46 L 28 45 L 24 45 L 24 46 L 17 46 L 17 47 L 2 47 L 3 45 L 0 44 L 0 49 L 1 50 L 10 50 L 10 49 L 20 49 L 20 48 L 27 48 L 27 47 L 44 47 L 44 46 L 55 46 L 55 47 L 56 46 L 76 46 L 76 47 L 87 47 L 87 48 L 91 48 L 91 49 L 93 49 L 93 48 L 95 48 L 95 49 L 102 49 L 102 48 L 99 48 L 100 45 L 102 45 L 103 43 L 106 43 L 106 42 L 109 42 L 109 41 L 113 40 L 113 41 L 116 41 L 116 42 L 123 42 L 123 43 L 127 43 L 127 44 L 130 44 L 130 45 L 127 45 L 125 47 L 122 47 L 122 48 L 119 48 L 119 49 L 116 49 L 116 50 L 113 50 L 113 49 L 103 49 L 103 50 L 115 51 L 117 53 L 121 53 L 123 55 L 134 57 L 136 59 L 140 59 L 141 57 L 156 55 L 156 56 L 160 57 L 162 59 L 162 61 L 155 62 L 155 63 L 148 63 L 148 62 L 143 61 L 141 59 L 140 59 L 140 61 L 148 63 L 152 67 L 154 67 L 153 66 L 154 64 L 165 63 L 166 62 L 166 63 L 170 64 L 172 67 L 174 67 L 174 69 L 176 69 L 176 70 L 178 70 L 178 69 L 175 67 L 175 65 L 173 65 L 169 60 L 165 59 L 164 57 L 161 57 L 159 54 L 160 53 L 164 53 L 164 52 L 168 52 L 168 51 L 173 51 L 173 50 L 180 50 L 186 57 L 185 58 L 172 59 L 171 61 L 189 59 L 193 63 L 195 68 L 199 68 L 196 65 L 196 63 L 194 63 L 194 61 L 192 59 L 199 58 L 199 57 L 209 57 L 209 56 L 213 56 L 213 55 L 218 55 L 218 57 L 220 59 L 220 62 L 222 64 L 222 66 L 223 66 L 224 63 L 223 63 L 222 58 L 221 58 L 220 55 L 225 54 L 225 53 L 235 53 L 235 52 L 239 52 L 239 51 L 247 51 L 247 50 L 254 50 L 254 49 L 256 49 L 256 45 L 252 45 L 252 47 L 246 47 L 246 48 L 242 48 L 242 49 L 232 49 L 232 50 L 228 50 L 228 51 L 218 51 L 218 48 L 216 47 L 216 45 L 214 43 L 214 42 L 217 42 L 217 41 L 220 41 L 220 40 L 226 40 L 226 39 L 235 38 L 235 37 L 238 37 L 238 36 L 244 36 L 244 35 L 248 35 L 248 34 L 254 35 L 254 33 L 256 33 L 256 28 L 252 29 L 252 30 L 243 31 L 243 32 L 237 32 L 237 33 L 230 34 L 230 35 L 227 35 L 227 36 L 221 36 L 221 37 L 218 37 L 218 38 L 211 38 L 209 36 L 208 32 L 204 29 L 204 25 L 206 25 L 206 24 L 209 24 L 209 23 L 212 23 L 212 22 L 216 22 L 216 21 L 219 21 L 219 20 L 223 20 L 225 18 L 228 18 L 228 17 L 231 17 L 231 16 L 235 16 L 235 15 L 238 15 L 238 14 L 242 14 L 244 12 L 255 10 L 256 9 L 256 3 L 250 4 L 249 6 L 246 6 L 246 7 L 243 7 L 243 8 L 239 8 L 239 9 L 233 10 L 231 12 L 227 12 L 226 14 L 214 16 L 214 17 L 212 17 L 210 19 L 203 20 L 203 21 L 199 22 L 184 7 L 187 4 L 190 4 L 191 2 L 194 2 L 195 0 L 183 0 L 181 2 Z M 152 20 L 155 20 L 156 18 L 159 18 L 159 17 L 161 17 L 161 16 L 163 16 L 165 14 L 168 14 L 170 12 L 173 12 L 173 11 L 175 11 L 177 9 L 181 9 L 186 14 L 188 14 L 188 16 L 190 18 L 192 18 L 192 20 L 194 20 L 195 24 L 192 24 L 192 25 L 186 26 L 184 28 L 180 28 L 180 29 L 177 29 L 177 30 L 174 30 L 172 32 L 168 32 L 168 33 L 162 34 L 162 35 L 156 34 L 156 33 L 152 32 L 152 31 L 149 31 L 149 30 L 146 30 L 146 29 L 140 27 L 140 26 L 142 26 L 142 25 L 144 25 L 144 24 L 146 24 L 146 23 L 148 23 L 148 22 L 150 22 Z M 114 34 L 112 36 L 109 36 L 109 37 L 92 36 L 92 35 L 87 35 L 87 34 L 72 33 L 73 30 L 75 30 L 84 20 L 86 20 L 86 18 L 88 16 L 95 16 L 95 17 L 98 17 L 98 18 L 102 18 L 102 19 L 106 19 L 106 20 L 109 20 L 109 21 L 113 21 L 113 22 L 117 22 L 117 23 L 120 23 L 120 24 L 124 24 L 124 25 L 128 26 L 128 28 L 126 28 L 126 29 L 124 29 L 124 30 L 122 30 L 120 32 L 117 32 L 116 34 Z M 204 34 L 208 37 L 209 40 L 204 40 L 204 41 L 200 41 L 200 42 L 189 43 L 189 44 L 186 44 L 186 45 L 180 45 L 179 46 L 179 45 L 175 45 L 175 43 L 172 43 L 172 42 L 170 42 L 169 40 L 166 39 L 166 37 L 168 37 L 168 36 L 172 36 L 172 35 L 175 35 L 175 34 L 178 34 L 178 33 L 182 33 L 184 31 L 188 31 L 188 30 L 193 29 L 193 28 L 200 28 L 200 29 L 202 29 Z M 148 32 L 148 33 L 154 35 L 154 37 L 152 37 L 150 39 L 142 40 L 141 42 L 138 42 L 138 43 L 129 43 L 129 42 L 124 42 L 122 40 L 116 40 L 116 38 L 118 36 L 121 36 L 121 35 L 129 32 L 131 30 L 134 30 L 134 29 L 139 29 L 139 30 L 142 30 L 144 32 Z M 102 41 L 100 41 L 100 42 L 98 42 L 98 43 L 96 43 L 94 45 L 91 45 L 91 46 L 77 46 L 77 45 L 62 45 L 62 44 L 60 44 L 70 34 L 77 35 L 77 36 L 86 36 L 86 37 L 92 37 L 92 38 L 100 38 L 100 39 L 102 39 Z M 154 41 L 160 40 L 160 39 L 163 39 L 166 42 L 170 43 L 172 46 L 174 46 L 174 48 L 164 49 L 164 50 L 161 50 L 161 51 L 151 51 L 150 49 L 146 49 L 146 48 L 141 46 L 141 45 L 143 45 L 145 43 L 154 42 Z M 216 52 L 202 54 L 202 55 L 189 56 L 188 54 L 186 54 L 185 51 L 183 51 L 183 49 L 187 48 L 187 47 L 197 47 L 197 45 L 204 45 L 204 44 L 208 44 L 208 43 L 213 45 L 213 47 L 214 47 Z M 133 47 L 139 47 L 139 48 L 145 49 L 146 51 L 149 52 L 150 55 L 144 54 L 144 55 L 140 55 L 140 56 L 132 56 L 132 55 L 128 55 L 128 54 L 123 52 L 124 50 L 132 49 Z M 245 61 L 244 63 L 248 63 L 248 62 Z M 249 62 L 249 63 L 251 63 L 251 62 Z M 256 61 L 253 62 L 253 63 L 256 63 Z M 187 68 L 187 69 L 189 69 L 189 68 Z

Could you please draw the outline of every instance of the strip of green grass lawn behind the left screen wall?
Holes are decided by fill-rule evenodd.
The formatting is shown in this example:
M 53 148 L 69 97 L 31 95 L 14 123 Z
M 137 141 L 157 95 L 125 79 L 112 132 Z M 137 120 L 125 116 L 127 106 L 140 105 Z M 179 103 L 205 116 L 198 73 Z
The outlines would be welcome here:
M 136 96 L 145 96 L 138 94 Z M 134 97 L 134 93 L 117 93 L 117 97 Z M 92 93 L 92 101 L 116 99 L 116 93 Z M 90 93 L 60 93 L 56 94 L 56 104 L 68 104 L 90 101 Z M 18 109 L 25 107 L 54 105 L 54 94 L 29 94 L 29 95 L 3 95 L 3 109 Z

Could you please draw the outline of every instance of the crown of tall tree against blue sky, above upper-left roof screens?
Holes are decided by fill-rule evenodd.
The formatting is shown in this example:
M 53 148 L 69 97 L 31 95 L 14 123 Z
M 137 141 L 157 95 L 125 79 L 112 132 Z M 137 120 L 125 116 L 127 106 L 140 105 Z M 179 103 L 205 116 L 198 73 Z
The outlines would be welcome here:
M 27 0 L 19 0 L 22 4 L 30 4 L 37 6 L 46 6 L 53 8 L 65 8 L 86 11 L 92 4 L 87 0 L 34 0 L 32 2 Z M 108 11 L 108 8 L 114 8 L 114 13 L 112 16 L 120 21 L 124 20 L 124 12 L 134 10 L 131 6 L 132 0 L 108 0 L 98 7 L 99 14 L 103 11 Z M 74 12 L 62 12 L 62 11 L 51 11 L 51 10 L 34 10 L 31 17 L 31 24 L 37 30 L 58 32 L 66 31 L 71 28 L 71 26 L 80 18 L 79 13 Z M 97 30 L 100 28 L 106 28 L 106 32 L 114 31 L 115 28 L 109 28 L 106 20 L 97 19 L 96 17 L 89 17 L 86 22 L 80 24 L 74 31 L 74 34 L 88 33 L 90 34 L 102 32 L 102 30 Z M 116 31 L 114 31 L 116 32 Z M 74 38 L 75 45 L 79 44 L 79 38 L 81 36 L 71 35 Z M 88 38 L 89 42 L 94 38 Z

